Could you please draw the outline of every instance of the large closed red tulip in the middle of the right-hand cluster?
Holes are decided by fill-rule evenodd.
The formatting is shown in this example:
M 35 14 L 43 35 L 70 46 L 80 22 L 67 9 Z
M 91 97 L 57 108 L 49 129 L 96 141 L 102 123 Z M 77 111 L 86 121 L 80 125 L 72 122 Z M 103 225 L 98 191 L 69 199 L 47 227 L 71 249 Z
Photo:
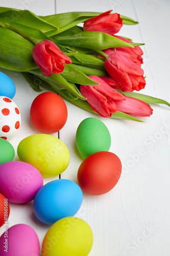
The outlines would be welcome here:
M 113 80 L 126 91 L 140 91 L 145 87 L 143 70 L 127 56 L 114 51 L 105 60 L 105 68 Z

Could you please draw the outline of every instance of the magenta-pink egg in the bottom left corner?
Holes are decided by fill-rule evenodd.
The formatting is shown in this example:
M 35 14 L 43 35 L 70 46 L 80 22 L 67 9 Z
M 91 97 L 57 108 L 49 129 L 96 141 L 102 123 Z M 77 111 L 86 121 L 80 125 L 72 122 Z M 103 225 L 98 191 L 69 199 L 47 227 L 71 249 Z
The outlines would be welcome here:
M 38 256 L 40 245 L 35 230 L 26 224 L 17 224 L 5 228 L 0 238 L 1 256 Z

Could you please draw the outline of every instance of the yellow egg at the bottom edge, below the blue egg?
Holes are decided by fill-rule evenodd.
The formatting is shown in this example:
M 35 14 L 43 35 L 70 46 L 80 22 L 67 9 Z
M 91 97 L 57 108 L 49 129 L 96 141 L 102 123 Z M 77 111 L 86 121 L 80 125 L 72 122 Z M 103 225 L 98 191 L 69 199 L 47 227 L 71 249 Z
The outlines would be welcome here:
M 55 222 L 45 234 L 42 256 L 87 256 L 93 233 L 82 219 L 67 217 Z

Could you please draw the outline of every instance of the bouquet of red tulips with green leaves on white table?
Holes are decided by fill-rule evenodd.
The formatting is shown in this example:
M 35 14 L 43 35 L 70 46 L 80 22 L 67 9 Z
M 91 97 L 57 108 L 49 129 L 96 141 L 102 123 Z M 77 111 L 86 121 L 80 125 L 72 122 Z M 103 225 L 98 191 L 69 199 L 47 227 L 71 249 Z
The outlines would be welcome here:
M 36 16 L 1 7 L 0 67 L 22 72 L 34 90 L 56 92 L 87 111 L 140 121 L 134 116 L 153 112 L 148 103 L 170 104 L 134 92 L 146 83 L 143 44 L 115 34 L 135 24 L 111 11 Z

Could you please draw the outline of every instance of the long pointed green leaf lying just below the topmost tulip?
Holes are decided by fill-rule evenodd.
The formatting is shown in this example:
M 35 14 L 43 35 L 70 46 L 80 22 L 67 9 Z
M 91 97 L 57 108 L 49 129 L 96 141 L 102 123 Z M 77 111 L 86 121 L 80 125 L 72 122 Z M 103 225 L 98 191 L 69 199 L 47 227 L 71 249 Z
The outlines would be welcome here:
M 120 40 L 112 35 L 103 32 L 85 31 L 72 36 L 52 36 L 59 44 L 84 47 L 87 49 L 99 51 L 114 47 L 133 47 L 128 42 Z

